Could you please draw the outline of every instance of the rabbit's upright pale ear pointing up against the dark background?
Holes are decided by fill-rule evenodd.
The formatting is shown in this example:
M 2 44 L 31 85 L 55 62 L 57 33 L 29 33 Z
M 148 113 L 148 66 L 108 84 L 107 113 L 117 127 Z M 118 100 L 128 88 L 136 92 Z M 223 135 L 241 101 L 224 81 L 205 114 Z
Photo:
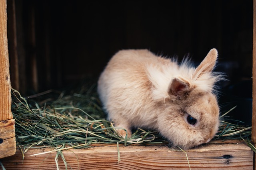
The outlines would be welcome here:
M 204 58 L 204 60 L 200 63 L 200 65 L 196 67 L 196 70 L 194 71 L 192 78 L 196 79 L 203 75 L 205 72 L 211 72 L 214 69 L 217 57 L 218 51 L 215 48 L 211 49 Z

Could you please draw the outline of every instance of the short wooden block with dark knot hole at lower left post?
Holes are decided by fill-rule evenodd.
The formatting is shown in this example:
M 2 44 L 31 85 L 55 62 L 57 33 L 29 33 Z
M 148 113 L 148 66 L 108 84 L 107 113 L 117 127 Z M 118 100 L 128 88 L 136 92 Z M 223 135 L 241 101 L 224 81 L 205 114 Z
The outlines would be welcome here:
M 14 119 L 0 122 L 0 158 L 14 155 L 16 152 L 16 139 Z

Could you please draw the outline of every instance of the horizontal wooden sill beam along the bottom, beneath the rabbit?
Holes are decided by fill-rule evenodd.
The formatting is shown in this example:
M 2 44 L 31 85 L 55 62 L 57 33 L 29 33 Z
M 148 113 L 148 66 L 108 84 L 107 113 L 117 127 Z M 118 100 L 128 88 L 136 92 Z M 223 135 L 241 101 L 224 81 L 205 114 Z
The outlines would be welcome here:
M 30 149 L 25 154 L 22 163 L 22 153 L 16 152 L 14 156 L 0 160 L 8 170 L 50 170 L 56 169 L 56 152 L 34 155 L 51 149 Z M 205 144 L 190 150 L 186 154 L 182 151 L 171 150 L 164 145 L 130 145 L 119 146 L 120 161 L 116 145 L 95 146 L 88 149 L 71 149 L 63 151 L 68 163 L 68 169 L 154 169 L 188 170 L 188 161 L 191 169 L 225 169 L 225 170 L 251 170 L 253 167 L 253 151 L 241 141 L 224 143 L 221 141 Z M 59 157 L 60 169 L 64 163 Z

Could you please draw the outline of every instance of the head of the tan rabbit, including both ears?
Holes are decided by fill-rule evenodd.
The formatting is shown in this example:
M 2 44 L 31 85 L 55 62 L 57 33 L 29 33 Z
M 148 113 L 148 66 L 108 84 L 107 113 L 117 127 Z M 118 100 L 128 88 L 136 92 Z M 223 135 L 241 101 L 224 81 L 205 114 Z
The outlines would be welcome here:
M 174 77 L 170 82 L 158 127 L 175 146 L 186 149 L 207 143 L 218 130 L 219 107 L 213 87 L 221 76 L 212 73 L 216 59 L 217 50 L 212 49 L 191 79 Z

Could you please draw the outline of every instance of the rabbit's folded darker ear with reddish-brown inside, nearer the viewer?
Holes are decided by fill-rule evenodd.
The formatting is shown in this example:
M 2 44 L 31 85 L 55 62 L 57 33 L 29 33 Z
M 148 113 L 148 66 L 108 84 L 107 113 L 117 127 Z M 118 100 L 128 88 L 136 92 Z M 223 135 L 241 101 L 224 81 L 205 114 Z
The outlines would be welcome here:
M 174 78 L 169 85 L 168 95 L 170 95 L 171 99 L 174 101 L 176 99 L 183 99 L 184 94 L 188 91 L 190 91 L 190 84 L 187 81 Z

